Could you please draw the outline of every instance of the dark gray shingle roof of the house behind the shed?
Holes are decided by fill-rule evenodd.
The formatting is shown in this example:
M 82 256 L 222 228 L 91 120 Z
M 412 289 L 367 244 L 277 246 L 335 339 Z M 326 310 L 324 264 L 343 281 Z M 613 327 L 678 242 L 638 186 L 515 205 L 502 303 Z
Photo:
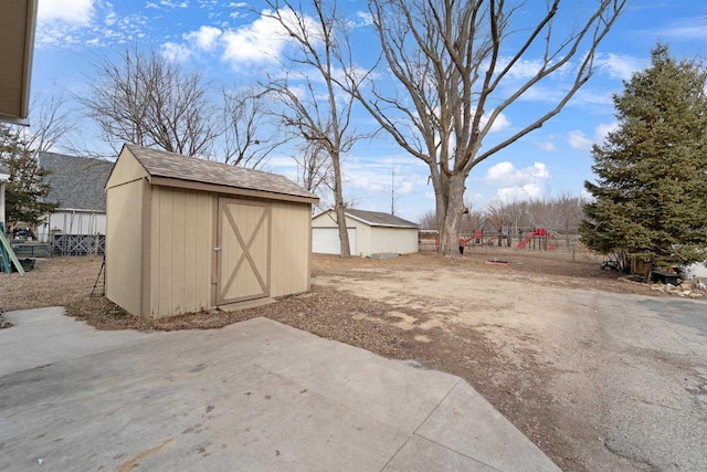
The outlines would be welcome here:
M 46 201 L 60 208 L 106 211 L 105 187 L 114 162 L 87 157 L 40 153 L 40 167 L 51 170 Z

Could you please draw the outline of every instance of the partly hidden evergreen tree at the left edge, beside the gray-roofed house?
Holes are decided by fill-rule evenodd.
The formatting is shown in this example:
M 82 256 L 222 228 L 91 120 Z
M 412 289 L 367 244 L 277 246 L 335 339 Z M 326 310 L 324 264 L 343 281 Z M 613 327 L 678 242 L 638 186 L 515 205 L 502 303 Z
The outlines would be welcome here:
M 42 201 L 49 195 L 44 177 L 50 171 L 38 166 L 36 153 L 23 145 L 21 132 L 13 126 L 0 125 L 0 164 L 10 169 L 6 188 L 8 227 L 35 227 L 46 213 L 59 207 L 57 203 Z

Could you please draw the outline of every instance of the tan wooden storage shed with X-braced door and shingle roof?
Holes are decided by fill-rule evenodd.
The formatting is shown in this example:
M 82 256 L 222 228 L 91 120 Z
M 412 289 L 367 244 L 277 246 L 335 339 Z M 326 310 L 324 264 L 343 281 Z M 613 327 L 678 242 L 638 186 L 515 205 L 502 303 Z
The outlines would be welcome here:
M 317 200 L 283 176 L 125 145 L 106 185 L 106 296 L 160 318 L 306 292 Z

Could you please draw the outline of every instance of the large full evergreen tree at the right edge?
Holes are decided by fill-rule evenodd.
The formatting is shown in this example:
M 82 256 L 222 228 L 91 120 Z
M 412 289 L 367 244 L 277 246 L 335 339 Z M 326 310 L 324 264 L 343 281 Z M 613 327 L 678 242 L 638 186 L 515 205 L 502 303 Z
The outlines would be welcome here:
M 665 45 L 614 96 L 619 129 L 592 155 L 583 242 L 657 266 L 707 258 L 707 71 Z

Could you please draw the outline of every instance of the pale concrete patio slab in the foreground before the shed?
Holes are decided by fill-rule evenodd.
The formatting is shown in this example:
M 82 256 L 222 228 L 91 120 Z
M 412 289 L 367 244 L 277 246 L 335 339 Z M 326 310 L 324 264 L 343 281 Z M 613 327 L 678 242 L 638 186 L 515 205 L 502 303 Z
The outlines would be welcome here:
M 0 470 L 557 470 L 460 378 L 270 319 L 6 317 Z

